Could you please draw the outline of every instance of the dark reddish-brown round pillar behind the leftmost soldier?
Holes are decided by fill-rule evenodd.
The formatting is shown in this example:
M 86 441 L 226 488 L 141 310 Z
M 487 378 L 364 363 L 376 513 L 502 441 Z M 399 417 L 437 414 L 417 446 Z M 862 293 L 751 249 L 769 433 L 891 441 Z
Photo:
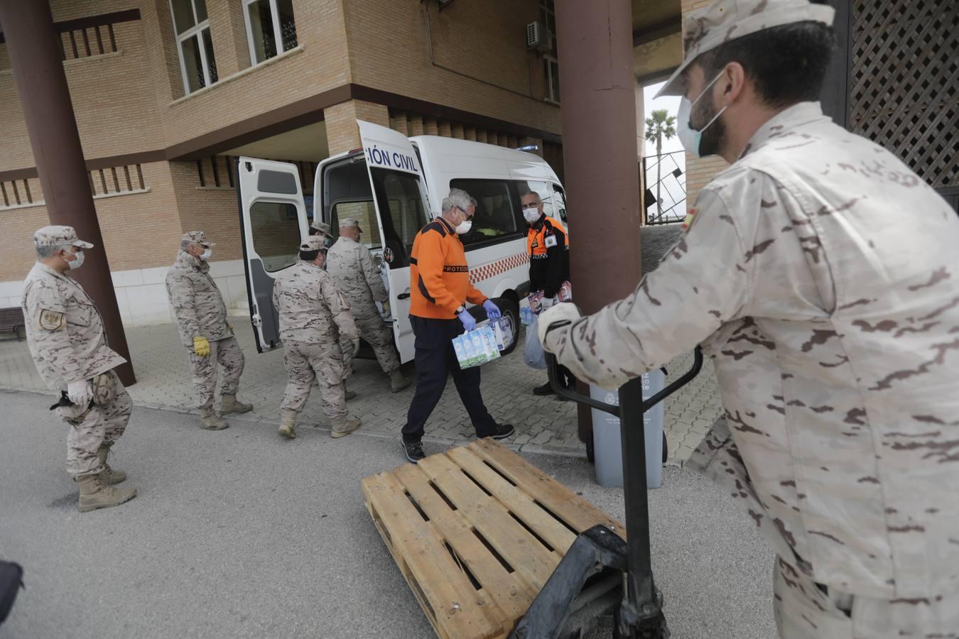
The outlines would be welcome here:
M 73 275 L 97 303 L 110 348 L 127 358 L 127 363 L 116 369 L 117 375 L 125 385 L 135 384 L 50 4 L 48 0 L 0 0 L 0 23 L 47 215 L 51 224 L 73 226 L 82 240 L 95 244 L 86 252 L 83 267 Z

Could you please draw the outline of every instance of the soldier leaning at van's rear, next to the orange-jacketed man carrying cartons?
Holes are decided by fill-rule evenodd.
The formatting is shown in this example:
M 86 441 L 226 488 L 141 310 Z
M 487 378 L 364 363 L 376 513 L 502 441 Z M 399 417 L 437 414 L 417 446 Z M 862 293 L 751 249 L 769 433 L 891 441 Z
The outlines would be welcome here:
M 354 217 L 339 220 L 339 240 L 330 247 L 326 270 L 337 280 L 339 290 L 353 311 L 360 336 L 373 347 L 380 368 L 389 376 L 390 390 L 398 393 L 412 383 L 400 372 L 400 359 L 393 346 L 393 333 L 386 328 L 375 302 L 389 312 L 389 295 L 373 263 L 373 255 L 360 242 L 363 229 Z

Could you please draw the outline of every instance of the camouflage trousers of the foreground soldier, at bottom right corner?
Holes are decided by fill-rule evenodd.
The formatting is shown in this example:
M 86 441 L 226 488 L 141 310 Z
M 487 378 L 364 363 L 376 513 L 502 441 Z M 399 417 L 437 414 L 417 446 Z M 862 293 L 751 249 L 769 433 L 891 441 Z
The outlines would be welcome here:
M 860 597 L 820 586 L 777 558 L 773 593 L 781 639 L 959 638 L 959 592 L 918 599 Z

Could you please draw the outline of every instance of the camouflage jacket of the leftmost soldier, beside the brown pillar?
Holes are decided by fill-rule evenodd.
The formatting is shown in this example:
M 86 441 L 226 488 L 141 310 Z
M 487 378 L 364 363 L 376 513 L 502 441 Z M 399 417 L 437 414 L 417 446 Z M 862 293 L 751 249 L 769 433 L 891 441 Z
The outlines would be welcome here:
M 73 278 L 36 262 L 23 282 L 23 318 L 36 370 L 51 390 L 127 360 L 106 345 L 104 319 Z

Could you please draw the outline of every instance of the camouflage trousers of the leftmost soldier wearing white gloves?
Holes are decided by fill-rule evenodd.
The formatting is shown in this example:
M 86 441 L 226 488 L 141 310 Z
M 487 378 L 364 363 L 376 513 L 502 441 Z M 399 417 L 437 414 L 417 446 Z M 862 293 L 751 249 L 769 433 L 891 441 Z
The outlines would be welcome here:
M 59 418 L 70 425 L 66 438 L 66 471 L 74 477 L 103 470 L 97 451 L 100 446 L 114 445 L 127 429 L 133 401 L 116 373 L 109 371 L 107 375 L 113 377 L 112 401 L 90 408 L 60 406 L 57 409 Z

